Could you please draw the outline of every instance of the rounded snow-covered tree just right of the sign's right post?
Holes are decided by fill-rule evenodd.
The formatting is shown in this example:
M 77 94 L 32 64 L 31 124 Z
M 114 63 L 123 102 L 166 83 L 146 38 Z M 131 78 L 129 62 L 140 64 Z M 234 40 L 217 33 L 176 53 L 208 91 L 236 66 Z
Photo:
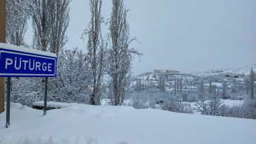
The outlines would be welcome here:
M 87 56 L 77 48 L 62 50 L 57 62 L 57 77 L 49 78 L 49 99 L 89 103 L 91 75 Z

